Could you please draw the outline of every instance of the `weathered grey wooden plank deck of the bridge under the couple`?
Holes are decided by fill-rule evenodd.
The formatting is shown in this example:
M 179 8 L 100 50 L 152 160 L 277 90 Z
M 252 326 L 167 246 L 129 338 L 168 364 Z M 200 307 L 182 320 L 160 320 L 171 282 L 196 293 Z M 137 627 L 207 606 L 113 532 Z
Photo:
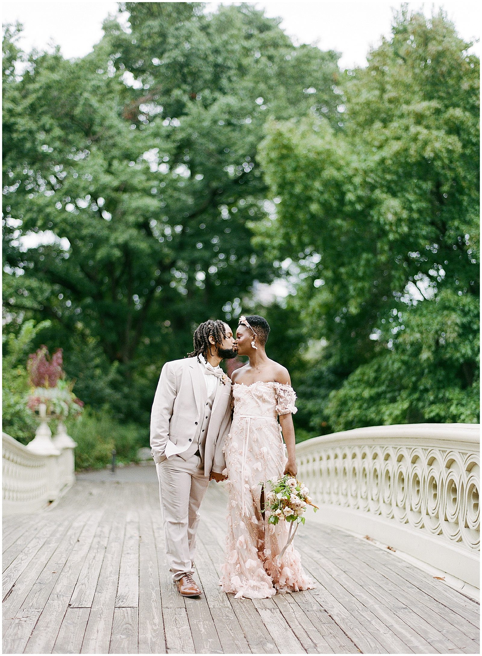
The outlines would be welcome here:
M 54 508 L 5 518 L 4 653 L 479 653 L 477 602 L 318 522 L 296 538 L 316 590 L 221 593 L 225 506 L 211 483 L 198 599 L 171 584 L 152 466 L 81 474 Z

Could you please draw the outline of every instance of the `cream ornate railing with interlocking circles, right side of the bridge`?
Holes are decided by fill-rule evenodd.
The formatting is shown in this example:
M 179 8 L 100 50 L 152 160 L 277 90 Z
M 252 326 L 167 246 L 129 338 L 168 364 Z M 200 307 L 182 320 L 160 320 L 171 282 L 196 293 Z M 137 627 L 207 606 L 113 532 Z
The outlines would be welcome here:
M 301 442 L 317 518 L 479 587 L 478 424 L 356 428 Z

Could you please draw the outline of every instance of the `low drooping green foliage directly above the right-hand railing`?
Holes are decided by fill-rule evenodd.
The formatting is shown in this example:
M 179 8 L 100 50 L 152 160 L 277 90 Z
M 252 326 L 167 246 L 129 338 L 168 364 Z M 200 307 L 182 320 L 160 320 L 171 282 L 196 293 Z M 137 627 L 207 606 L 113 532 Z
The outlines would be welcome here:
M 477 423 L 478 319 L 475 299 L 449 290 L 403 312 L 405 329 L 393 350 L 358 367 L 340 390 L 331 392 L 330 426 Z M 388 339 L 391 331 L 386 332 Z

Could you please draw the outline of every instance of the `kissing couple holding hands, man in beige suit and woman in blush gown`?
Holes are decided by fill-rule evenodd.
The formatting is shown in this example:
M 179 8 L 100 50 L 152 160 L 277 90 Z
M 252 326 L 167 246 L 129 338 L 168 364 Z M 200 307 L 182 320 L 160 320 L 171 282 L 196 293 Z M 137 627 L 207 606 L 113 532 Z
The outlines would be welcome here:
M 297 474 L 296 394 L 288 370 L 266 354 L 269 331 L 257 315 L 241 316 L 236 337 L 224 321 L 204 321 L 194 351 L 162 367 L 150 445 L 167 560 L 186 597 L 202 594 L 192 575 L 199 507 L 210 480 L 226 480 L 229 493 L 221 590 L 253 599 L 315 587 L 293 544 L 283 551 L 287 522 L 273 525 L 265 513 L 269 481 Z M 231 380 L 219 363 L 236 355 L 249 361 Z

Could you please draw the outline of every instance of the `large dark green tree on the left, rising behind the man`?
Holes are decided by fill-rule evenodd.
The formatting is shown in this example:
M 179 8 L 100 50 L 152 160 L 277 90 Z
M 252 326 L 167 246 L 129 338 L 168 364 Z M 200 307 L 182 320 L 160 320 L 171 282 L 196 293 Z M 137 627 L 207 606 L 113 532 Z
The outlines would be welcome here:
M 336 126 L 338 55 L 249 5 L 125 9 L 129 33 L 110 18 L 91 54 L 32 52 L 21 76 L 5 33 L 5 298 L 52 321 L 80 398 L 145 421 L 194 326 L 272 279 L 257 145 L 269 117 Z

